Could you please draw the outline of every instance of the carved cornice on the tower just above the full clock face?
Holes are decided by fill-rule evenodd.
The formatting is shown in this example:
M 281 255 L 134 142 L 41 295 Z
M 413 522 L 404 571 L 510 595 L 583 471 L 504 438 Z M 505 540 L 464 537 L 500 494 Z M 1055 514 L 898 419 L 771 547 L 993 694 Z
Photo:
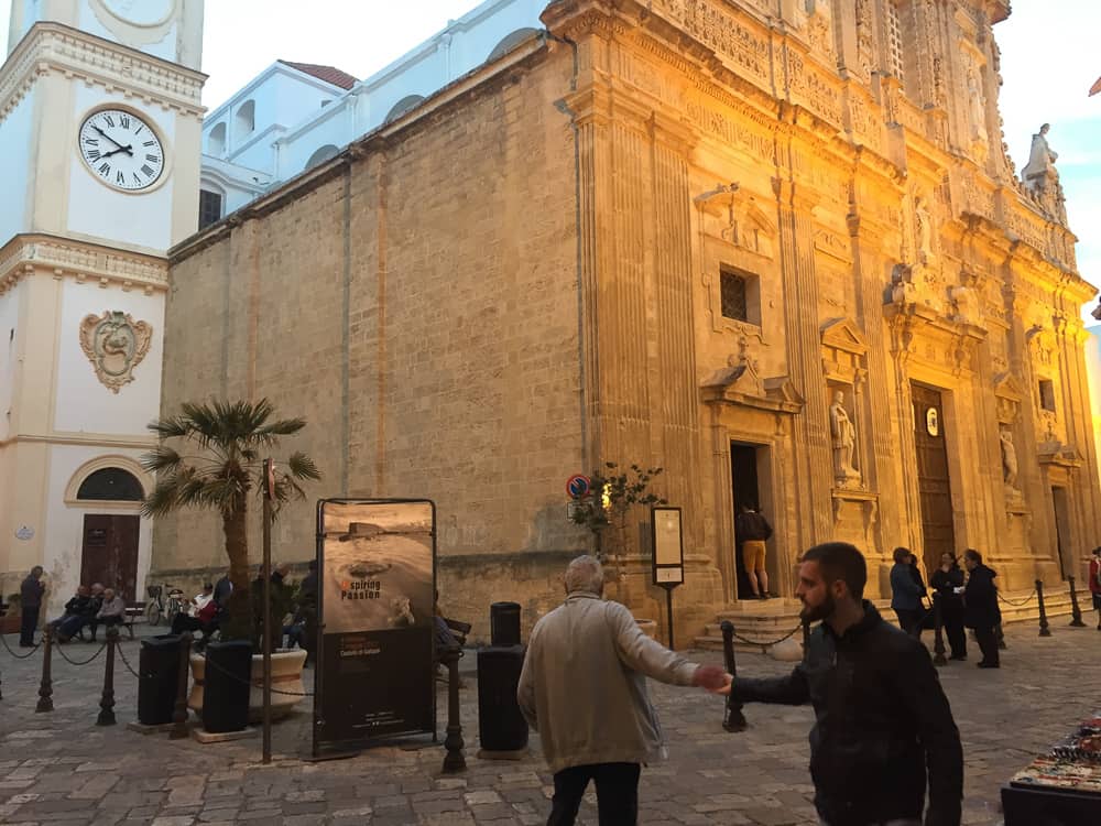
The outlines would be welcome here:
M 41 75 L 57 73 L 111 91 L 133 95 L 150 106 L 201 117 L 206 75 L 159 57 L 70 29 L 35 23 L 8 57 L 0 75 L 0 120 Z

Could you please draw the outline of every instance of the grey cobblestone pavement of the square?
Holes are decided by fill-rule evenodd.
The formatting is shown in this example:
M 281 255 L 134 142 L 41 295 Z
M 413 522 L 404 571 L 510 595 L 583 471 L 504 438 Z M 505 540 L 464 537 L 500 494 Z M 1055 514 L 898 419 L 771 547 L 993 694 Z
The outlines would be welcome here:
M 1092 616 L 1092 615 L 1091 615 Z M 1095 710 L 1101 633 L 1092 627 L 1011 627 L 1000 671 L 973 660 L 940 670 L 963 733 L 964 823 L 998 824 L 999 787 L 1016 769 Z M 1092 624 L 1092 623 L 1091 623 Z M 6 638 L 14 644 L 15 638 Z M 72 659 L 91 644 L 69 644 Z M 137 666 L 138 643 L 122 643 Z M 18 651 L 18 649 L 17 649 Z M 717 662 L 712 652 L 700 653 Z M 462 721 L 468 771 L 440 775 L 443 748 L 426 740 L 372 749 L 321 763 L 308 752 L 308 707 L 277 724 L 274 760 L 260 762 L 259 738 L 200 745 L 127 729 L 137 681 L 120 664 L 118 725 L 97 727 L 105 657 L 85 666 L 54 660 L 52 714 L 35 714 L 42 655 L 14 661 L 0 648 L 0 824 L 199 826 L 313 824 L 539 824 L 550 778 L 533 739 L 521 761 L 477 759 L 477 686 L 472 652 L 464 660 Z M 778 674 L 789 664 L 742 655 L 745 674 Z M 308 674 L 308 672 L 307 672 Z M 807 773 L 810 709 L 746 706 L 750 729 L 726 733 L 722 702 L 698 689 L 653 685 L 671 760 L 643 770 L 641 822 L 658 824 L 816 823 Z M 308 702 L 307 702 L 308 703 Z M 440 688 L 440 739 L 446 692 Z M 580 823 L 596 824 L 595 800 Z

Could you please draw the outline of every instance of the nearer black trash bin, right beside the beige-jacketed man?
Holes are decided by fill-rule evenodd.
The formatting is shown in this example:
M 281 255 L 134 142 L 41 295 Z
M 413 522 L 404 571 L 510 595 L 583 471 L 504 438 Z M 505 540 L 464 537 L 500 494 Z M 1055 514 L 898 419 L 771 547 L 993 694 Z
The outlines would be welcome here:
M 516 702 L 523 667 L 523 645 L 490 645 L 478 652 L 478 737 L 483 751 L 527 747 L 527 720 Z

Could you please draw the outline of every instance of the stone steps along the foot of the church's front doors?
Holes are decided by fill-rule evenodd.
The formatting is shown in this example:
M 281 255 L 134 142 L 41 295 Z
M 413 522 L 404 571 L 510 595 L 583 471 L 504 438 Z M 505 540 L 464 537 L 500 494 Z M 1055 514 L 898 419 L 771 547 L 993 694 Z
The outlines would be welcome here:
M 1032 622 L 1039 628 L 1039 606 L 1034 593 L 1018 591 L 1003 594 L 1003 599 L 999 600 L 1002 610 L 1002 624 L 1015 624 L 1021 622 Z M 1017 604 L 1017 605 L 1013 605 Z M 1091 610 L 1092 602 L 1089 591 L 1084 595 L 1078 593 L 1078 605 L 1081 608 L 1083 620 L 1090 624 L 1095 620 L 1095 615 Z M 875 607 L 884 619 L 897 624 L 894 611 L 891 610 L 890 600 L 876 600 Z M 717 616 L 715 622 L 709 622 L 704 627 L 704 633 L 695 639 L 695 648 L 708 651 L 722 650 L 722 631 L 720 623 L 730 620 L 734 626 L 734 633 L 745 640 L 753 641 L 746 643 L 734 639 L 734 651 L 751 651 L 755 653 L 767 653 L 780 638 L 787 634 L 799 623 L 799 610 L 802 605 L 797 599 L 767 599 L 748 600 L 739 602 Z M 1072 613 L 1070 600 L 1070 589 L 1067 586 L 1050 587 L 1044 590 L 1044 610 L 1051 628 L 1059 624 L 1067 624 L 1066 618 Z M 1093 615 L 1093 620 L 1090 616 Z M 1058 622 L 1051 622 L 1058 619 Z M 802 643 L 803 633 L 796 631 L 794 639 Z

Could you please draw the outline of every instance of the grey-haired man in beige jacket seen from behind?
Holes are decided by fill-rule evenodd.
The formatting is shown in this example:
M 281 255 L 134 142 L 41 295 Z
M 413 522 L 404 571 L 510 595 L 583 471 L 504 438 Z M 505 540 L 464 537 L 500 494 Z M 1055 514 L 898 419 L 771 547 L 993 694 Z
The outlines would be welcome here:
M 547 826 L 570 826 L 589 781 L 600 826 L 633 826 L 642 763 L 665 757 L 646 677 L 720 688 L 722 669 L 696 665 L 646 637 L 631 612 L 606 601 L 600 563 L 566 568 L 566 601 L 535 623 L 516 697 L 554 772 Z

